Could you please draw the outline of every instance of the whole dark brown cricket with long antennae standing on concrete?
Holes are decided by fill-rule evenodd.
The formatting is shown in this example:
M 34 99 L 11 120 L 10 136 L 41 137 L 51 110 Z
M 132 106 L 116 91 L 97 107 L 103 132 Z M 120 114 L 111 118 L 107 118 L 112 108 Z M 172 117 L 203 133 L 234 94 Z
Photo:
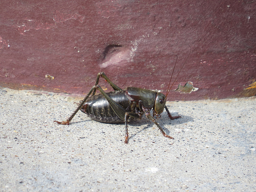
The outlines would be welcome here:
M 176 62 L 177 58 L 178 56 L 176 56 Z M 176 66 L 176 62 L 174 68 Z M 184 62 L 184 64 L 185 63 L 186 61 Z M 184 64 L 182 65 L 182 68 Z M 174 69 L 172 71 L 172 74 L 173 72 Z M 104 90 L 102 90 L 102 88 L 98 85 L 100 77 L 103 77 L 110 84 L 110 86 L 112 86 L 114 91 L 104 92 Z M 172 75 L 170 78 L 170 82 L 171 79 Z M 124 143 L 128 143 L 129 135 L 127 122 L 130 121 L 131 118 L 141 119 L 142 115 L 145 114 L 148 119 L 152 120 L 156 124 L 156 126 L 159 128 L 159 130 L 165 137 L 174 139 L 173 137 L 167 135 L 164 132 L 162 127 L 160 127 L 160 125 L 156 122 L 154 118 L 154 116 L 160 116 L 164 109 L 168 113 L 170 119 L 180 118 L 180 116 L 172 116 L 166 106 L 166 97 L 170 92 L 172 85 L 174 84 L 173 82 L 172 85 L 170 86 L 170 82 L 165 96 L 161 92 L 156 92 L 137 87 L 128 87 L 127 90 L 122 90 L 121 88 L 116 86 L 112 81 L 110 81 L 110 79 L 104 74 L 104 72 L 98 73 L 95 85 L 91 88 L 91 90 L 84 98 L 84 100 L 80 102 L 78 108 L 76 108 L 76 110 L 70 116 L 70 118 L 68 118 L 68 120 L 66 121 L 54 122 L 57 122 L 58 124 L 62 125 L 68 125 L 79 110 L 81 110 L 82 112 L 90 116 L 93 120 L 96 120 L 98 122 L 124 122 L 126 130 Z M 99 90 L 100 94 L 95 95 L 96 90 Z M 153 111 L 153 116 L 151 116 L 150 110 Z

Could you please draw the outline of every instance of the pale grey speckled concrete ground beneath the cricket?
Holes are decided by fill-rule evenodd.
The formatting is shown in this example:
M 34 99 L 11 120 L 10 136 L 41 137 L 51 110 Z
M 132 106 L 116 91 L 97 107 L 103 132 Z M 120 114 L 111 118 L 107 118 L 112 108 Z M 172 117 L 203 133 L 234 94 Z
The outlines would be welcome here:
M 168 102 L 124 124 L 65 120 L 77 98 L 0 89 L 0 191 L 256 191 L 256 97 Z

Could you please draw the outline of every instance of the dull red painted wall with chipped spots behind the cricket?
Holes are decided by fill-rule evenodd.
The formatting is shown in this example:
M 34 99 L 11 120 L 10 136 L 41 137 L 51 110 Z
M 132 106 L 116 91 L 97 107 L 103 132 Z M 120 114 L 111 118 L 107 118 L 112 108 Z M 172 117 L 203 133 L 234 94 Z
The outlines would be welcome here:
M 246 0 L 1 1 L 0 86 L 86 94 L 104 71 L 122 88 L 165 93 L 176 54 L 174 77 L 189 57 L 173 89 L 198 90 L 169 100 L 252 96 L 255 29 Z

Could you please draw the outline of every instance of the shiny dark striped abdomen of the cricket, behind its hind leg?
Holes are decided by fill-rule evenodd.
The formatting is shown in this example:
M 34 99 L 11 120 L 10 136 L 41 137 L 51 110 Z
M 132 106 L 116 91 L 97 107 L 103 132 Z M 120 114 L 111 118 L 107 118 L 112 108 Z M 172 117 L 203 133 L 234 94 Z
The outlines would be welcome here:
M 125 91 L 107 92 L 115 102 L 122 105 L 126 111 L 130 111 L 130 101 L 125 96 Z M 120 119 L 114 110 L 112 110 L 109 102 L 102 94 L 94 95 L 88 98 L 86 103 L 81 108 L 81 111 L 86 113 L 90 118 L 98 122 L 104 123 L 120 123 L 124 120 Z

